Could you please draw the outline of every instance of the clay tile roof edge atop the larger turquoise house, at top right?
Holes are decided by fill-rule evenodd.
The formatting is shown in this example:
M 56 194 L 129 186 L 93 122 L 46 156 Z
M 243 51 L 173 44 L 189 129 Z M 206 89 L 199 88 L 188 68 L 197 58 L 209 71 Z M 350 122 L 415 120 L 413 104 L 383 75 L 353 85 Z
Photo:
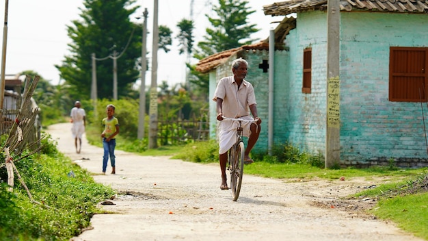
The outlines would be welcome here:
M 265 15 L 271 16 L 286 16 L 315 10 L 327 10 L 327 0 L 290 0 L 263 6 Z M 340 0 L 340 10 L 427 13 L 428 0 Z

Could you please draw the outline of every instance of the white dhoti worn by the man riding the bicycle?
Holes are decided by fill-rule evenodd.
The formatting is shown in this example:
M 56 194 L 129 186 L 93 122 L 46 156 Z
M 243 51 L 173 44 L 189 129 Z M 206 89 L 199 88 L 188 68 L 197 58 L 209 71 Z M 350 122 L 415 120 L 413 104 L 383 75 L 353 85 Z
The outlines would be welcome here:
M 241 119 L 253 121 L 252 116 L 241 116 Z M 230 147 L 237 142 L 237 128 L 239 123 L 237 121 L 223 120 L 219 123 L 219 154 L 226 153 Z M 249 137 L 251 122 L 242 122 L 243 129 L 242 136 Z

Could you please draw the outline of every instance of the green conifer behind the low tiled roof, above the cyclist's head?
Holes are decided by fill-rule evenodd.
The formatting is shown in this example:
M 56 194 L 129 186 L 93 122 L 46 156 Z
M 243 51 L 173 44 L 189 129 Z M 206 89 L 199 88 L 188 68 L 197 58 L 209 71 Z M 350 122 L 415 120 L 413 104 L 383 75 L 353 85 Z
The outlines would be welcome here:
M 250 35 L 260 29 L 248 23 L 248 15 L 256 11 L 249 10 L 247 4 L 248 1 L 242 0 L 219 0 L 219 5 L 213 6 L 217 18 L 205 15 L 213 28 L 206 28 L 204 41 L 198 42 L 200 50 L 195 58 L 202 60 L 214 53 L 249 45 L 254 41 Z

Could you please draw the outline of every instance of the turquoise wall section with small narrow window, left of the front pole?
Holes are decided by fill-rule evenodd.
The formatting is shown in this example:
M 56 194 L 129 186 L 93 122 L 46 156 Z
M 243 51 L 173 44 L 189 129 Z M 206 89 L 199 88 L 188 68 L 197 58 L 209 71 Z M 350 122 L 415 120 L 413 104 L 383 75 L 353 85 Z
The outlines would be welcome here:
M 326 18 L 323 12 L 299 14 L 297 28 L 287 36 L 290 45 L 289 92 L 286 138 L 293 146 L 310 153 L 323 153 L 325 149 L 325 69 Z M 303 51 L 312 48 L 312 89 L 310 94 L 302 93 Z

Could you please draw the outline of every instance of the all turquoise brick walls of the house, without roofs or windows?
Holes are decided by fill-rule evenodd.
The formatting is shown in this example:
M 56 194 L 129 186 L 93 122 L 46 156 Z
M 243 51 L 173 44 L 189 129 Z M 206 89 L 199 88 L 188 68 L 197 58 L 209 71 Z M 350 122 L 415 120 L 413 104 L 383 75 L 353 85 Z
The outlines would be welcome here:
M 388 100 L 389 47 L 427 47 L 427 15 L 341 12 L 340 160 L 343 166 L 428 166 L 420 103 Z M 412 26 L 410 28 L 409 26 Z M 325 153 L 327 88 L 327 16 L 299 14 L 297 28 L 286 37 L 289 51 L 276 51 L 273 144 L 289 142 L 302 151 Z M 302 93 L 302 61 L 312 48 L 312 88 Z M 254 149 L 267 150 L 269 73 L 258 64 L 268 51 L 240 53 L 249 62 L 248 77 L 256 91 L 262 133 Z M 218 79 L 232 75 L 229 62 L 210 75 L 210 95 Z M 428 107 L 425 105 L 425 116 Z M 213 114 L 212 114 L 213 113 Z M 210 103 L 215 122 L 215 103 Z M 426 117 L 425 117 L 426 118 Z M 428 125 L 428 120 L 425 120 Z M 212 125 L 211 134 L 215 136 Z

